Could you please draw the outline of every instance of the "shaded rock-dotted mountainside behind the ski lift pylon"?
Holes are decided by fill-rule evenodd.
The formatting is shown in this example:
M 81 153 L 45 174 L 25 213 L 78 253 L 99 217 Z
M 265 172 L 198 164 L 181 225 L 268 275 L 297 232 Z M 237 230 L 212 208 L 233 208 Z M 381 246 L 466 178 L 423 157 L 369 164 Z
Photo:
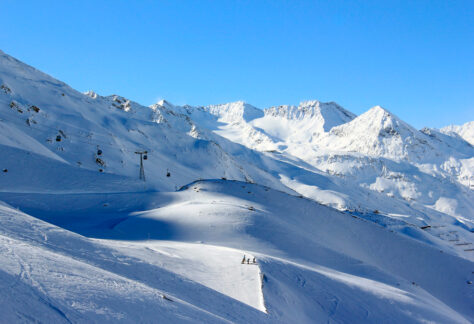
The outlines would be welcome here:
M 193 123 L 173 112 L 156 111 L 115 95 L 84 95 L 4 53 L 0 53 L 0 85 L 5 90 L 0 91 L 0 145 L 57 160 L 65 164 L 62 168 L 137 179 L 135 152 L 146 150 L 148 189 L 175 190 L 198 178 L 275 183 L 252 165 L 244 168 L 212 137 L 194 134 Z M 3 168 L 18 172 L 15 163 L 9 161 Z M 15 179 L 15 173 L 11 177 Z

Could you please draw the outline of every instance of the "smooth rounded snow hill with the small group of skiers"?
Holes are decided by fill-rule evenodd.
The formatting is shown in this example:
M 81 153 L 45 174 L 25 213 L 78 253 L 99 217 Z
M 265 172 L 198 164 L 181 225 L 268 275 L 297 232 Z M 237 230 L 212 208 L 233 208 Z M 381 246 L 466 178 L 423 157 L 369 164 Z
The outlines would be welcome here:
M 474 315 L 471 286 L 466 284 L 472 279 L 471 262 L 267 187 L 221 180 L 196 182 L 176 193 L 141 194 L 136 200 L 129 194 L 35 197 L 1 195 L 13 205 L 21 203 L 32 215 L 95 239 L 11 209 L 7 212 L 15 217 L 10 217 L 10 224 L 2 224 L 8 235 L 17 235 L 17 230 L 9 228 L 18 226 L 21 215 L 35 224 L 36 234 L 25 233 L 35 244 L 49 242 L 49 249 L 92 260 L 96 267 L 133 277 L 173 300 L 227 320 L 467 323 Z M 136 206 L 125 197 L 135 200 Z M 84 208 L 84 203 L 91 206 Z M 148 207 L 142 210 L 145 205 Z M 98 218 L 99 210 L 104 209 L 109 210 L 108 217 Z M 46 233 L 44 227 L 49 228 Z M 423 235 L 422 230 L 417 231 Z M 55 239 L 55 235 L 62 237 Z M 79 242 L 90 248 L 76 247 Z M 240 264 L 243 254 L 255 256 L 258 265 Z M 113 265 L 112 260 L 118 264 Z M 125 270 L 122 262 L 127 264 Z M 160 274 L 159 280 L 155 273 Z M 186 280 L 178 280 L 181 276 Z M 45 289 L 52 285 L 40 273 L 35 280 L 48 287 Z M 121 286 L 118 283 L 116 289 Z M 202 295 L 196 297 L 204 289 L 201 286 L 216 292 L 206 293 L 204 301 Z M 224 306 L 229 299 L 213 300 L 212 294 L 218 293 L 241 301 L 239 307 Z M 62 297 L 51 294 L 51 303 L 56 305 Z M 70 298 L 69 306 L 60 304 L 66 316 L 74 312 L 78 318 L 89 316 L 95 308 L 77 309 L 75 305 L 81 302 L 76 299 L 81 296 Z M 115 310 L 109 301 L 102 305 Z M 192 316 L 201 319 L 201 313 Z

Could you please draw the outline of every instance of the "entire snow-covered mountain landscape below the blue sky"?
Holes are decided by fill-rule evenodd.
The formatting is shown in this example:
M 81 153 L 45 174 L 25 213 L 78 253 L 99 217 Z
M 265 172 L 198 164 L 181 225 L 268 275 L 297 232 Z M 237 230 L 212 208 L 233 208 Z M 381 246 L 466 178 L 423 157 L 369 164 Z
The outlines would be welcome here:
M 466 134 L 144 107 L 0 52 L 0 322 L 472 323 Z

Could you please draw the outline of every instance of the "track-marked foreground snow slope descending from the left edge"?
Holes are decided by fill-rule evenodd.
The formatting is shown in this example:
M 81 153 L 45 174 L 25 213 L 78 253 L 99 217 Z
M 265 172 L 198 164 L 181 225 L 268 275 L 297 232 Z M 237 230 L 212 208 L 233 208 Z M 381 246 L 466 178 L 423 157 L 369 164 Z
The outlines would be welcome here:
M 226 321 L 196 306 L 194 298 L 197 304 L 212 301 L 215 309 L 233 307 L 241 318 L 252 315 L 211 289 L 100 242 L 6 205 L 1 216 L 0 284 L 9 297 L 1 303 L 2 322 Z

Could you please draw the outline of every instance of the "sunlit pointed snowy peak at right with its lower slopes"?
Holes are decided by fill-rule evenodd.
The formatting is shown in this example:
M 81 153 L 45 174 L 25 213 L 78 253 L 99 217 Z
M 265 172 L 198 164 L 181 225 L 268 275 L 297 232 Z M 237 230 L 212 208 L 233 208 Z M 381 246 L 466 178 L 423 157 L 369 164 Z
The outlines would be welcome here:
M 472 191 L 459 186 L 469 187 L 474 176 L 472 146 L 435 130 L 417 131 L 379 106 L 332 128 L 315 147 L 287 152 L 388 197 L 421 203 L 413 208 L 432 206 L 473 225 Z M 456 205 L 440 208 L 436 202 L 447 198 Z

